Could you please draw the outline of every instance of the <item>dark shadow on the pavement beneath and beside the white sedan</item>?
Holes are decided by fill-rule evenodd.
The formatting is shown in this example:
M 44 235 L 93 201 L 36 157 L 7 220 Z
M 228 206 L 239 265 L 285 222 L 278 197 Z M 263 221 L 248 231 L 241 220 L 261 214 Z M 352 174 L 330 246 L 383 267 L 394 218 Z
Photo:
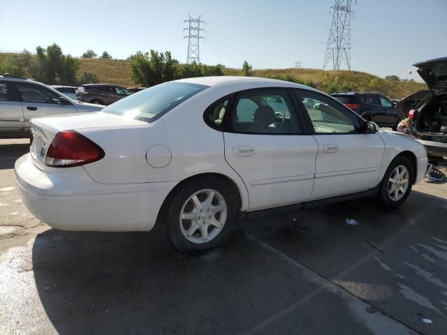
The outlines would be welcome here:
M 195 257 L 175 251 L 160 228 L 47 230 L 32 246 L 34 278 L 59 334 L 369 334 L 338 295 L 321 292 L 294 262 L 431 332 L 412 324 L 422 312 L 402 304 L 393 274 L 375 258 L 402 267 L 393 257 L 410 253 L 411 244 L 427 244 L 430 234 L 444 238 L 445 204 L 413 192 L 399 209 L 366 199 L 242 221 L 223 246 Z M 409 276 L 404 270 L 393 271 Z

